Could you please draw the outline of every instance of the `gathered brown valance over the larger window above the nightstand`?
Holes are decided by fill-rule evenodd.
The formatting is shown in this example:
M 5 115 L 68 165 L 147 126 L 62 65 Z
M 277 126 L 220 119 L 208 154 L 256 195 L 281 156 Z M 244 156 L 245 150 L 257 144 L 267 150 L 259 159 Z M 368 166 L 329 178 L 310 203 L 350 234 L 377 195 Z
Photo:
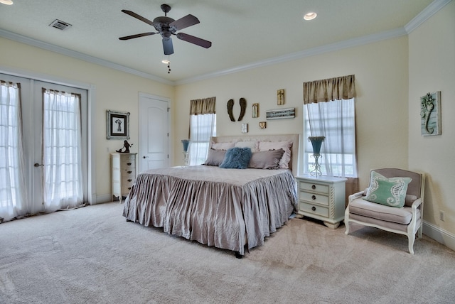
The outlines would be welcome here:
M 304 82 L 304 104 L 355 97 L 355 75 Z

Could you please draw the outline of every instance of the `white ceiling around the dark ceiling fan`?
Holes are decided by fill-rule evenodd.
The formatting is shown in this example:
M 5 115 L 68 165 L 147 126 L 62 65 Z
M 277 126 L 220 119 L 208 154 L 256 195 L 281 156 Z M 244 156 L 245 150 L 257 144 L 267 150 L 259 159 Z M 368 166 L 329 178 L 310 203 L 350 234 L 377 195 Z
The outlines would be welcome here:
M 436 2 L 447 0 L 436 0 Z M 0 4 L 0 36 L 21 40 L 86 60 L 114 63 L 166 83 L 184 83 L 317 52 L 346 41 L 405 34 L 405 26 L 432 0 L 14 0 Z M 171 73 L 161 60 L 161 36 L 119 40 L 154 31 L 147 23 L 122 13 L 134 11 L 152 20 L 188 13 L 200 23 L 181 31 L 212 41 L 205 49 L 173 36 Z M 428 10 L 428 8 L 427 8 Z M 314 21 L 303 21 L 315 11 Z M 419 15 L 420 16 L 420 15 Z M 48 26 L 55 19 L 70 23 L 65 31 Z M 416 20 L 414 18 L 414 20 Z M 31 38 L 31 39 L 29 39 Z M 69 50 L 77 53 L 70 53 Z M 83 55 L 82 55 L 83 54 Z M 4 55 L 4 54 L 2 54 Z M 105 60 L 105 61 L 104 61 Z

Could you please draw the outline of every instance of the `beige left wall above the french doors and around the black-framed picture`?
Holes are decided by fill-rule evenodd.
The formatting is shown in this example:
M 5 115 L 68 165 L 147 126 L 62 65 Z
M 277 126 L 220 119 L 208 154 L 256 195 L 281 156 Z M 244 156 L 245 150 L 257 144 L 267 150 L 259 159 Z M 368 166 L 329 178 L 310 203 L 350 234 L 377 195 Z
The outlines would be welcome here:
M 109 200 L 110 155 L 122 148 L 123 141 L 106 139 L 106 110 L 130 112 L 131 151 L 138 146 L 139 92 L 173 99 L 173 87 L 138 77 L 127 72 L 87 63 L 41 48 L 0 38 L 0 66 L 21 70 L 24 76 L 38 73 L 52 80 L 82 82 L 95 88 L 95 195 L 97 200 Z M 6 55 L 8 54 L 8 55 Z

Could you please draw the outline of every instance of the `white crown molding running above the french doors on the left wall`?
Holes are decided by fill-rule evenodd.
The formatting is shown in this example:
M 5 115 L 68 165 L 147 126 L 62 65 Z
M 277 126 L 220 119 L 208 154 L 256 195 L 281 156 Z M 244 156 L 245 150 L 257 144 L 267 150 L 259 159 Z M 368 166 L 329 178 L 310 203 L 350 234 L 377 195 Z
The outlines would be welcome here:
M 40 40 L 36 40 L 36 39 L 33 39 L 33 38 L 28 38 L 26 36 L 22 36 L 22 35 L 19 35 L 19 34 L 16 34 L 16 33 L 11 33 L 9 31 L 4 31 L 2 29 L 0 29 L 0 37 L 7 38 L 7 39 L 10 39 L 10 40 L 14 40 L 14 41 L 17 41 L 17 42 L 20 42 L 20 43 L 25 43 L 25 44 L 28 44 L 28 45 L 36 46 L 37 48 L 42 48 L 44 50 L 50 50 L 51 52 L 59 53 L 59 54 L 62 54 L 62 55 L 67 55 L 67 56 L 70 56 L 70 57 L 73 57 L 73 58 L 77 58 L 77 59 L 80 59 L 80 60 L 87 61 L 89 63 L 95 63 L 96 65 L 102 65 L 103 67 L 110 67 L 110 68 L 112 68 L 114 70 L 127 72 L 129 74 L 137 75 L 139 77 L 144 77 L 144 78 L 147 78 L 147 79 L 150 79 L 150 80 L 154 80 L 156 82 L 161 82 L 161 83 L 164 83 L 166 85 L 175 85 L 175 82 L 170 81 L 170 80 L 166 80 L 166 79 L 158 77 L 156 75 L 151 75 L 149 73 L 140 72 L 138 70 L 134 70 L 134 69 L 129 68 L 129 67 L 124 67 L 123 65 L 119 65 L 117 63 L 112 63 L 110 61 L 103 60 L 103 59 L 100 59 L 100 58 L 96 58 L 96 57 L 93 57 L 93 56 L 90 56 L 90 55 L 86 55 L 84 53 L 79 53 L 79 52 L 76 52 L 74 50 L 70 50 L 68 48 L 61 48 L 60 46 L 57 46 L 57 45 L 53 45 L 53 44 L 50 44 L 50 43 L 45 43 L 45 42 L 40 41 Z

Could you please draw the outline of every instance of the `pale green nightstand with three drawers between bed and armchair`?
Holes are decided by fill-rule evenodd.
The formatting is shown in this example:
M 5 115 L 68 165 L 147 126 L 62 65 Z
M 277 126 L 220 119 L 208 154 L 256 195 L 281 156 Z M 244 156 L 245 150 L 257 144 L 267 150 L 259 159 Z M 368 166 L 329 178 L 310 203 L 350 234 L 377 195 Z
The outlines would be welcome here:
M 311 175 L 296 176 L 299 193 L 299 215 L 320 219 L 336 229 L 344 219 L 345 178 Z

